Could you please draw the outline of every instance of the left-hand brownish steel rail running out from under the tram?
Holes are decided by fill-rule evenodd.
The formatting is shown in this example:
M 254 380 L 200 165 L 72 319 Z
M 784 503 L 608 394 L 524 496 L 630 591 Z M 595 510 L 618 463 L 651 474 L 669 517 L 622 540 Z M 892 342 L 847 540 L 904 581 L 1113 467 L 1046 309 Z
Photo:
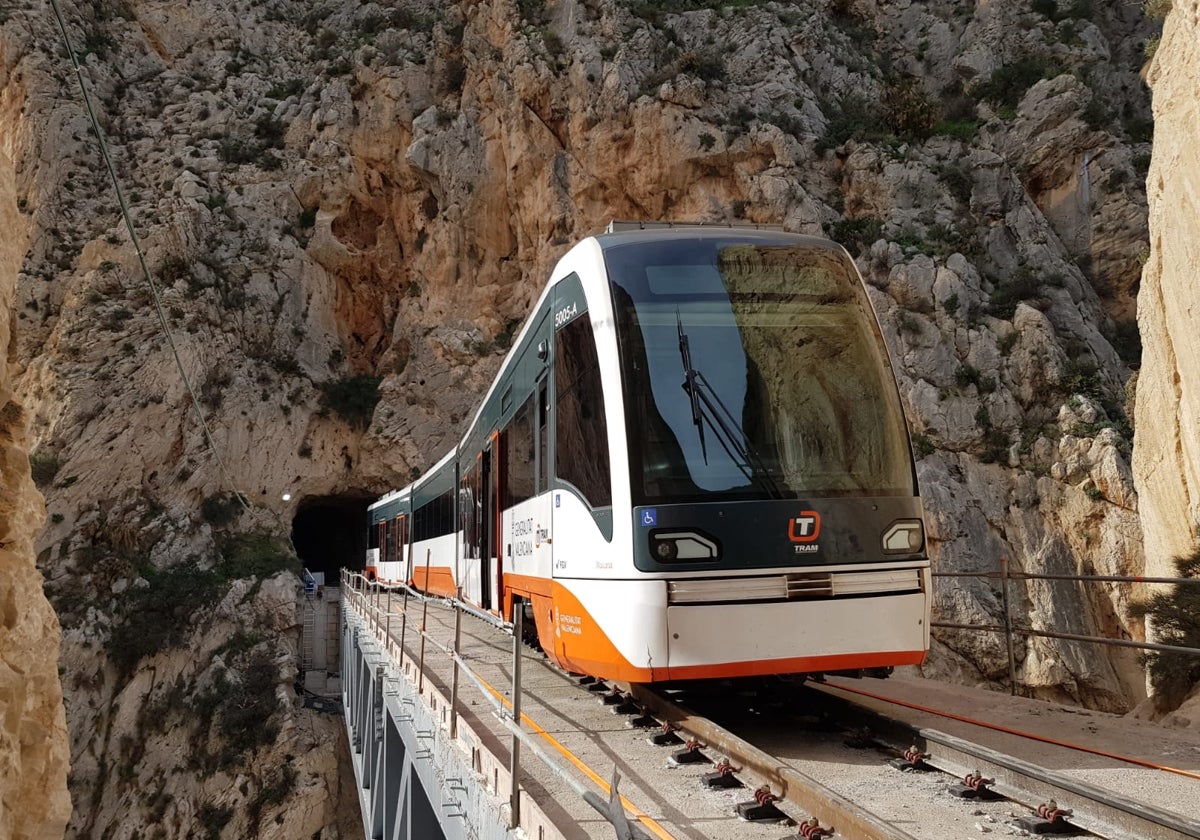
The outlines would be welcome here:
M 822 824 L 835 826 L 839 835 L 858 840 L 917 840 L 912 834 L 829 790 L 784 760 L 760 750 L 707 718 L 701 718 L 652 686 L 626 685 L 634 700 L 656 718 L 674 724 L 775 784 L 784 799 L 816 816 Z

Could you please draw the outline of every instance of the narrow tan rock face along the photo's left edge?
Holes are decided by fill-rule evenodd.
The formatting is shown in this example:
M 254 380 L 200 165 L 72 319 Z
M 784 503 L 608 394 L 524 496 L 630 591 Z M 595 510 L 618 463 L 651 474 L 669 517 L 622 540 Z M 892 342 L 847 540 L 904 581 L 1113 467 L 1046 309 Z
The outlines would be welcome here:
M 19 52 L 0 34 L 0 836 L 61 838 L 71 816 L 59 684 L 59 622 L 42 593 L 34 541 L 46 506 L 30 475 L 29 414 L 14 383 L 17 272 L 32 230 L 18 211 L 16 154 L 28 143 Z

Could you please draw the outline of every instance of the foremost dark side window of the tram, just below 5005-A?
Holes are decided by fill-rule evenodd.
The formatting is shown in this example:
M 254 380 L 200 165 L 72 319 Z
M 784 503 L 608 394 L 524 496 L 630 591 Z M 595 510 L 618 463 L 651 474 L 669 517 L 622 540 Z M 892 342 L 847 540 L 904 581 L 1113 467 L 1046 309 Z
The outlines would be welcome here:
M 554 472 L 593 508 L 612 504 L 608 424 L 592 322 L 576 318 L 554 336 Z

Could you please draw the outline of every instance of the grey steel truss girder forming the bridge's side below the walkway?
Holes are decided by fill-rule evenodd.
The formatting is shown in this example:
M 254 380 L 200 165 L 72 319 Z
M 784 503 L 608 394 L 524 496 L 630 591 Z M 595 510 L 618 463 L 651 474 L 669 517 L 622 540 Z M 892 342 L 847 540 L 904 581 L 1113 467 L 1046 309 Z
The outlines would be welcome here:
M 342 700 L 371 840 L 512 838 L 500 806 L 366 623 L 343 607 Z

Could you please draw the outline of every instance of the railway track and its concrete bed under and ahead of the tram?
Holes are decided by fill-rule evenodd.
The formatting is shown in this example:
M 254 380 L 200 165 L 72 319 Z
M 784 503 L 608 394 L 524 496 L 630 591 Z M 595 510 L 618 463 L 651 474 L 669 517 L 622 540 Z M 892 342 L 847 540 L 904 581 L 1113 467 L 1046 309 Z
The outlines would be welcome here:
M 430 605 L 434 607 L 428 614 L 431 630 L 448 641 L 452 619 L 446 617 L 452 613 L 437 601 Z M 443 612 L 446 614 L 438 618 Z M 511 648 L 511 636 L 484 622 L 467 619 L 464 635 L 488 649 L 472 654 L 468 661 L 511 662 L 510 654 L 505 654 Z M 438 624 L 444 629 L 436 630 Z M 414 642 L 409 636 L 406 647 L 415 652 L 410 647 Z M 647 816 L 654 815 L 650 820 L 654 830 L 646 830 L 643 820 L 643 826 L 635 827 L 630 836 L 780 840 L 785 835 L 803 836 L 803 823 L 816 817 L 820 826 L 835 828 L 834 836 L 842 838 L 983 840 L 990 832 L 1019 833 L 1018 821 L 1031 820 L 1032 809 L 1055 799 L 1060 806 L 1072 809 L 1073 824 L 1106 840 L 1200 838 L 1200 826 L 1181 815 L 1121 802 L 1111 792 L 1093 790 L 961 738 L 905 726 L 834 696 L 830 686 L 778 683 L 757 692 L 733 694 L 724 686 L 716 692 L 680 694 L 623 685 L 618 686 L 623 698 L 631 701 L 623 718 L 612 715 L 612 708 L 601 708 L 595 691 L 540 656 L 527 658 L 526 668 L 528 685 L 540 680 L 550 686 L 530 691 L 556 692 L 553 703 L 544 703 L 536 713 L 530 710 L 534 719 L 540 716 L 559 740 L 574 748 L 583 761 L 592 761 L 601 776 L 607 775 L 604 768 L 614 762 L 624 776 L 622 792 L 641 805 Z M 540 676 L 533 677 L 535 673 Z M 536 700 L 548 701 L 548 697 Z M 529 703 L 530 708 L 534 706 Z M 647 740 L 653 731 L 631 732 L 629 724 L 646 714 L 668 721 L 702 742 L 714 761 L 728 756 L 733 764 L 744 768 L 740 775 L 746 790 L 701 793 L 703 776 L 715 770 L 712 763 L 665 772 L 667 756 L 682 748 L 649 746 Z M 566 732 L 568 722 L 577 725 L 576 734 Z M 868 728 L 871 732 L 868 749 L 846 746 L 846 732 Z M 926 762 L 947 775 L 902 774 L 887 764 L 896 750 L 911 744 L 931 754 Z M 955 779 L 972 770 L 994 778 L 992 790 L 1004 799 L 977 803 L 949 796 L 948 788 Z M 780 797 L 776 805 L 782 815 L 802 824 L 739 822 L 732 812 L 733 805 L 752 800 L 761 785 L 768 785 L 772 794 Z M 607 791 L 602 793 L 607 796 Z M 599 827 L 596 833 L 589 829 L 587 835 L 611 838 L 612 828 Z

